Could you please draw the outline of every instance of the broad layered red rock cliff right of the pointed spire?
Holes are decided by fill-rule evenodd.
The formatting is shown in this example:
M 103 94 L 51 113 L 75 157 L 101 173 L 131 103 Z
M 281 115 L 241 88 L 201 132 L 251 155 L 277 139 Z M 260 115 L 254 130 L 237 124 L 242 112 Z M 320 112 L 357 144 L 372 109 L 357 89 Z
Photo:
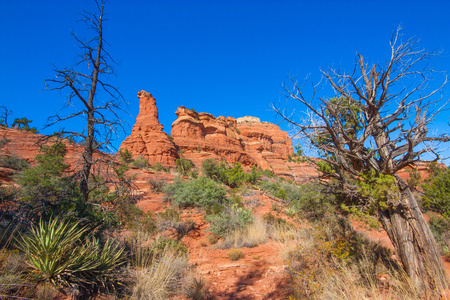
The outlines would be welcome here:
M 184 151 L 183 156 L 197 166 L 207 158 L 215 158 L 290 176 L 285 161 L 293 153 L 292 142 L 278 126 L 255 117 L 216 118 L 185 107 L 178 107 L 176 115 L 178 119 L 173 122 L 171 132 L 173 141 Z

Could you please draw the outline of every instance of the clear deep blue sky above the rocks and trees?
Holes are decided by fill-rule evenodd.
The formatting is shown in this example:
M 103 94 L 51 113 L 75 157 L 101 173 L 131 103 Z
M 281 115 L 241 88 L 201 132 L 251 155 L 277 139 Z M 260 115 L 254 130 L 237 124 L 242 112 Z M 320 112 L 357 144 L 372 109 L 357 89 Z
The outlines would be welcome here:
M 11 120 L 58 129 L 42 131 L 64 104 L 64 94 L 43 91 L 44 80 L 54 76 L 52 65 L 73 63 L 71 33 L 86 35 L 76 22 L 83 9 L 94 11 L 93 1 L 0 0 L 0 105 L 14 112 Z M 443 50 L 434 63 L 450 71 L 450 1 L 110 0 L 106 13 L 104 37 L 118 63 L 113 83 L 129 103 L 116 147 L 131 132 L 139 90 L 156 98 L 168 133 L 180 105 L 277 122 L 269 105 L 284 99 L 290 75 L 351 69 L 357 52 L 385 61 L 399 24 L 424 48 Z M 435 124 L 440 132 L 449 130 L 446 113 Z

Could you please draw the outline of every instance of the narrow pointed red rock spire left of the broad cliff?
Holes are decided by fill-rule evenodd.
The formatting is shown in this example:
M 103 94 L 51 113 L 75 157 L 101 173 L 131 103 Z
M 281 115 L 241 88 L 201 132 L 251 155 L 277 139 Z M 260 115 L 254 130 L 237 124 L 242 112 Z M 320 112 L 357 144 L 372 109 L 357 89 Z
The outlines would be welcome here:
M 149 164 L 159 162 L 165 166 L 174 166 L 178 152 L 163 131 L 163 125 L 159 123 L 155 98 L 146 91 L 140 91 L 138 98 L 139 114 L 136 124 L 119 150 L 128 149 L 134 158 L 145 157 Z

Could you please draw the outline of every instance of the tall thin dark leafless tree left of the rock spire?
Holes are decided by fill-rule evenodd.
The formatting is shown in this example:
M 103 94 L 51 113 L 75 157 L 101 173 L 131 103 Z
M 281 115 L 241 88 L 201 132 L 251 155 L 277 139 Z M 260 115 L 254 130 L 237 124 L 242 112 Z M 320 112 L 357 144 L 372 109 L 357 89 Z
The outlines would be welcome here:
M 84 118 L 86 127 L 82 132 L 62 130 L 59 134 L 75 138 L 84 144 L 82 168 L 80 171 L 80 190 L 87 201 L 89 195 L 89 176 L 94 165 L 95 150 L 109 145 L 117 129 L 122 129 L 118 116 L 124 101 L 120 92 L 106 80 L 115 73 L 114 60 L 105 50 L 107 43 L 103 39 L 104 7 L 106 0 L 95 1 L 96 13 L 84 11 L 83 22 L 93 37 L 81 39 L 73 34 L 80 55 L 72 68 L 55 68 L 55 79 L 47 79 L 47 90 L 68 90 L 65 108 L 76 107 L 68 115 L 59 113 L 50 117 L 48 126 L 70 119 Z M 79 108 L 79 109 L 78 109 Z

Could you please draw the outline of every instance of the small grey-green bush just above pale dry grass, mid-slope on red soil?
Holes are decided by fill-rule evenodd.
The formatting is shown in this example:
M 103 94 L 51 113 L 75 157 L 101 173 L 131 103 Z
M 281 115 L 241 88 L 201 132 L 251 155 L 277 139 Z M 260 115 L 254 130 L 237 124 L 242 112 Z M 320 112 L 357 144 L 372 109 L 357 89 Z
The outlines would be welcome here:
M 206 216 L 206 221 L 210 223 L 209 230 L 218 235 L 225 237 L 231 232 L 243 229 L 246 225 L 253 222 L 253 215 L 248 209 L 237 207 L 225 207 L 216 214 Z

